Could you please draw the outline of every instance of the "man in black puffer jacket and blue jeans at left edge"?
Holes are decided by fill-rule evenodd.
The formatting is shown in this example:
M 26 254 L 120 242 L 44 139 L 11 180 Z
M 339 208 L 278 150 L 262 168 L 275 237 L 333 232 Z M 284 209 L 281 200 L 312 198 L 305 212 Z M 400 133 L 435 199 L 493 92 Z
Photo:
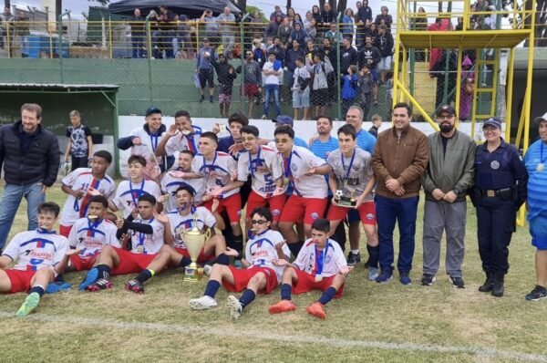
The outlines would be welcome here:
M 0 168 L 4 164 L 5 189 L 0 200 L 0 250 L 23 197 L 26 198 L 28 230 L 38 228 L 38 204 L 46 188 L 57 180 L 60 150 L 57 136 L 40 125 L 42 108 L 33 103 L 21 107 L 21 120 L 0 129 Z

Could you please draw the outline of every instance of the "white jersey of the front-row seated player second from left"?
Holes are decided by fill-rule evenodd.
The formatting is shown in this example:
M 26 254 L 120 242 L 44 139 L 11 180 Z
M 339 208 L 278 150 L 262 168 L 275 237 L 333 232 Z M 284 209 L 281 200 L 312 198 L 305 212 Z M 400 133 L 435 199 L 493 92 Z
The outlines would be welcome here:
M 80 257 L 89 258 L 98 254 L 103 245 L 121 248 L 116 232 L 116 224 L 108 220 L 92 223 L 88 218 L 80 218 L 68 234 L 68 244 L 80 250 Z

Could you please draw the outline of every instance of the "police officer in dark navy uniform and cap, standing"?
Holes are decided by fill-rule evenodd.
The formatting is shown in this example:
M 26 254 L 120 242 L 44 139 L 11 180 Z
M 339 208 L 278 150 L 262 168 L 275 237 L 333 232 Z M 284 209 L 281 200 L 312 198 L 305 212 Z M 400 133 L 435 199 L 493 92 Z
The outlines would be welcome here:
M 486 273 L 480 292 L 503 296 L 503 277 L 509 270 L 509 244 L 516 211 L 526 201 L 528 172 L 517 149 L 501 138 L 501 120 L 487 119 L 486 142 L 477 148 L 473 204 L 477 208 L 479 254 Z

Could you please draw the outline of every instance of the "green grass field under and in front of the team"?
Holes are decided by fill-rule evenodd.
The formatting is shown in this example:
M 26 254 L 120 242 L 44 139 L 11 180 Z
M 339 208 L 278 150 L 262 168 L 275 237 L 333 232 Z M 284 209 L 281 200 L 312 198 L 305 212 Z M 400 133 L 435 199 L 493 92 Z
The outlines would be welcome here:
M 48 201 L 61 205 L 64 199 L 58 185 L 47 194 Z M 25 208 L 22 203 L 11 235 L 26 228 Z M 397 274 L 387 285 L 369 282 L 361 264 L 348 277 L 346 295 L 326 306 L 325 321 L 305 314 L 318 292 L 294 296 L 295 312 L 269 316 L 267 307 L 279 299 L 276 290 L 259 296 L 232 322 L 223 289 L 216 309 L 190 310 L 188 300 L 201 296 L 205 279 L 188 285 L 181 271 L 168 271 L 138 296 L 123 289 L 129 276 L 117 276 L 112 290 L 82 293 L 73 286 L 46 295 L 36 313 L 24 319 L 14 317 L 24 294 L 0 296 L 0 362 L 547 361 L 547 302 L 524 300 L 535 276 L 527 229 L 513 235 L 504 297 L 477 290 L 484 276 L 472 208 L 463 265 L 466 288 L 449 284 L 444 264 L 437 282 L 426 287 L 419 285 L 421 212 L 420 206 L 413 285 L 400 285 Z M 83 275 L 66 278 L 77 285 Z

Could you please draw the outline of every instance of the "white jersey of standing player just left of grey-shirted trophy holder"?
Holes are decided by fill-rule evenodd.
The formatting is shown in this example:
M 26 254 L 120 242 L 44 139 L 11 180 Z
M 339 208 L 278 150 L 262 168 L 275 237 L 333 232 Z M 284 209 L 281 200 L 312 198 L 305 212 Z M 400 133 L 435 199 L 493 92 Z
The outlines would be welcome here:
M 304 198 L 326 198 L 327 185 L 323 175 L 304 175 L 310 168 L 325 165 L 325 161 L 316 157 L 312 151 L 293 146 L 291 155 L 283 158 L 284 177 L 291 181 L 293 194 Z

